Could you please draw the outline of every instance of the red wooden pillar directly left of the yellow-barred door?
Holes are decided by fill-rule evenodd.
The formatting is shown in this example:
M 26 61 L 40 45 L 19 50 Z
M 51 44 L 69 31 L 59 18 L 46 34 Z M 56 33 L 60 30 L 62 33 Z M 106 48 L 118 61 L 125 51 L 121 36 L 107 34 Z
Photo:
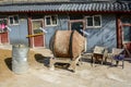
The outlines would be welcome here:
M 28 25 L 28 35 L 32 35 L 32 16 L 31 14 L 28 14 L 27 16 L 27 25 Z M 33 38 L 28 37 L 28 42 L 29 42 L 29 47 L 33 48 Z

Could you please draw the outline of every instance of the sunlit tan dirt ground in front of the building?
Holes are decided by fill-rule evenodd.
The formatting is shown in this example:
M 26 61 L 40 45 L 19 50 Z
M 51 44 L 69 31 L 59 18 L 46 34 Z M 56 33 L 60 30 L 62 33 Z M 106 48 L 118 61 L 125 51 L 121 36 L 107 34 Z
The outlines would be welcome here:
M 91 66 L 91 58 L 83 57 L 83 64 L 76 72 L 67 65 L 48 69 L 48 49 L 31 49 L 27 73 L 17 75 L 11 70 L 12 51 L 0 49 L 0 87 L 131 87 L 131 63 L 126 61 L 124 69 L 109 64 Z

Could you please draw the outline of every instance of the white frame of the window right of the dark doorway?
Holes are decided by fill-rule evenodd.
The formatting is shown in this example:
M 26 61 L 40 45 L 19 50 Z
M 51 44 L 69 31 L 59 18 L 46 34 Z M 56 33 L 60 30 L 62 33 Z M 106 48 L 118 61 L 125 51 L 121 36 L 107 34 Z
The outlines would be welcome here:
M 95 20 L 94 20 L 95 16 L 99 16 L 99 18 L 100 18 L 99 26 L 95 25 Z M 93 26 L 87 26 L 87 17 L 93 17 Z M 99 27 L 102 27 L 102 15 L 87 15 L 87 16 L 85 16 L 85 20 L 86 20 L 86 28 L 99 28 Z

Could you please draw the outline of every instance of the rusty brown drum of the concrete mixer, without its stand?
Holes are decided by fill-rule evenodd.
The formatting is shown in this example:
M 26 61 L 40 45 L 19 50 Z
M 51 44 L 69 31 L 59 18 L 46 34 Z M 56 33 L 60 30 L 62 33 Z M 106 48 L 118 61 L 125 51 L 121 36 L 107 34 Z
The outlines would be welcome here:
M 50 48 L 56 58 L 75 59 L 84 50 L 85 38 L 76 30 L 57 30 Z

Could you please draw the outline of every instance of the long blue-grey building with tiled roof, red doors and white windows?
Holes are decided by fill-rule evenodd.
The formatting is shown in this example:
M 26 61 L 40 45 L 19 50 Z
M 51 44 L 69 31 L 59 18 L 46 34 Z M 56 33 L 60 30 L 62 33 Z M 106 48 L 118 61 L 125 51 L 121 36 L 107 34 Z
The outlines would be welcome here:
M 56 30 L 87 33 L 87 51 L 97 46 L 109 50 L 131 49 L 130 1 L 59 1 L 0 5 L 0 44 L 49 48 Z M 45 33 L 46 30 L 46 33 Z

